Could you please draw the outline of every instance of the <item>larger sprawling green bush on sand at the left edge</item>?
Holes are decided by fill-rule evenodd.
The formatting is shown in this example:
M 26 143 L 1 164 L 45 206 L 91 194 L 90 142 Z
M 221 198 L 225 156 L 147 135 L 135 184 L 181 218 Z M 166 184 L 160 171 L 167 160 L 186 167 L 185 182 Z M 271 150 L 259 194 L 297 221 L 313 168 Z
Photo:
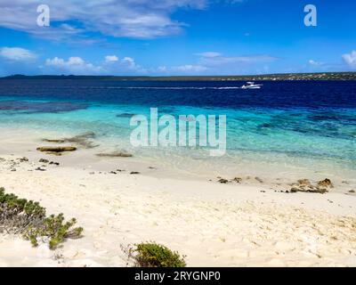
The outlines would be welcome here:
M 35 247 L 38 239 L 48 238 L 49 248 L 54 249 L 67 238 L 81 236 L 83 228 L 73 228 L 76 223 L 74 218 L 66 222 L 63 214 L 47 217 L 38 202 L 19 199 L 0 188 L 0 232 L 22 234 Z

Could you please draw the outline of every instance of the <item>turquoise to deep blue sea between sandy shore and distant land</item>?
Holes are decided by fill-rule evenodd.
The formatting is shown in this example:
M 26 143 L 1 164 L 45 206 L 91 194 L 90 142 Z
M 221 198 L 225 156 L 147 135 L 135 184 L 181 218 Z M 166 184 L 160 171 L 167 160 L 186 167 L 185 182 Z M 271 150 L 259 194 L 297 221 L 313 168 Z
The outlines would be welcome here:
M 255 90 L 243 84 L 3 79 L 0 127 L 93 131 L 140 152 L 128 141 L 134 114 L 151 107 L 174 116 L 224 114 L 230 159 L 281 156 L 292 164 L 306 158 L 356 168 L 356 81 L 268 81 Z

